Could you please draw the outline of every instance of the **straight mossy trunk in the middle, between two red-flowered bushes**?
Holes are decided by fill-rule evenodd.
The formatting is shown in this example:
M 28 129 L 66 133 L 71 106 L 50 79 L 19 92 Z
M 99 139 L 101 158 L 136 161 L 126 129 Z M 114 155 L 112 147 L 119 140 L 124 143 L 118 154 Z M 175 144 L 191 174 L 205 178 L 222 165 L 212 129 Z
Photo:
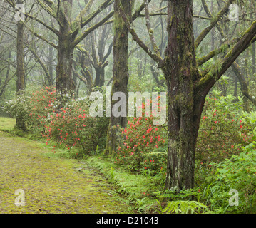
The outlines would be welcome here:
M 114 39 L 113 39 L 113 83 L 111 90 L 111 97 L 113 93 L 123 92 L 128 98 L 128 36 L 129 31 L 124 23 L 119 10 L 122 8 L 128 18 L 131 18 L 132 11 L 132 1 L 127 0 L 116 0 L 114 3 Z M 111 108 L 116 103 L 112 101 Z M 113 113 L 111 115 L 111 122 L 108 127 L 108 135 L 106 142 L 106 155 L 111 155 L 113 152 L 116 152 L 118 143 L 120 143 L 120 138 L 118 138 L 118 128 L 126 127 L 126 117 L 114 117 Z

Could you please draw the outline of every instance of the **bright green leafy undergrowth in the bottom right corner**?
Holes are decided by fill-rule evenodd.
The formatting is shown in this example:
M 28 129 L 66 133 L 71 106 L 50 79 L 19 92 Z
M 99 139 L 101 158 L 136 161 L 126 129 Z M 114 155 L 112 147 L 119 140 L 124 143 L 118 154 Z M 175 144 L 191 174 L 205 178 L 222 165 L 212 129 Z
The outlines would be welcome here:
M 256 212 L 256 150 L 255 142 L 242 147 L 239 155 L 231 155 L 222 162 L 211 162 L 210 166 L 198 169 L 201 176 L 198 199 L 217 213 Z M 198 177 L 196 177 L 198 179 Z M 238 205 L 229 203 L 230 190 L 237 190 Z

